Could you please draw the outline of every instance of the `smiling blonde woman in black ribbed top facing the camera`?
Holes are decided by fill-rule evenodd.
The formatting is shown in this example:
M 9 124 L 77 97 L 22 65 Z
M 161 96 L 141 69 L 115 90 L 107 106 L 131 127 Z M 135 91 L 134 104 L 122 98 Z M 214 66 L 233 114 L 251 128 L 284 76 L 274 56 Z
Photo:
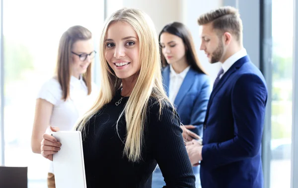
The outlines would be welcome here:
M 151 188 L 158 164 L 166 188 L 194 188 L 180 120 L 163 90 L 151 19 L 137 9 L 116 11 L 105 22 L 100 45 L 99 97 L 76 126 L 87 187 Z M 43 137 L 42 155 L 52 160 L 55 138 Z

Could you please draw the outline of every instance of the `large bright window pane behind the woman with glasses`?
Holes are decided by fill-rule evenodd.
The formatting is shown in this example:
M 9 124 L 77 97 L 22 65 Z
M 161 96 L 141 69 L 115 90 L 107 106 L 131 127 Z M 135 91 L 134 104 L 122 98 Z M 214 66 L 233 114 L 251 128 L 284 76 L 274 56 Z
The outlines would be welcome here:
M 5 165 L 28 166 L 29 188 L 47 188 L 48 161 L 30 145 L 37 92 L 53 76 L 59 39 L 70 26 L 88 28 L 99 47 L 103 2 L 3 0 Z

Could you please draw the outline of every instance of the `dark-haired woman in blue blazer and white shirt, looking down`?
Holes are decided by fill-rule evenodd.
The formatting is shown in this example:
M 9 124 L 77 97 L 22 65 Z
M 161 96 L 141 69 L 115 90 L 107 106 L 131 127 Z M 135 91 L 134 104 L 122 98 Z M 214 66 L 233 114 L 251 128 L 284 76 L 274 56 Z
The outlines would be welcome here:
M 202 136 L 203 123 L 211 94 L 210 78 L 198 60 L 192 36 L 185 25 L 172 22 L 159 34 L 164 89 L 175 105 L 183 128 L 183 137 L 190 141 L 192 132 Z M 192 132 L 191 132 L 192 131 Z M 199 162 L 199 161 L 198 161 Z M 175 164 L 172 164 L 175 165 Z M 199 168 L 194 167 L 200 185 Z M 152 188 L 162 187 L 159 169 L 153 173 Z

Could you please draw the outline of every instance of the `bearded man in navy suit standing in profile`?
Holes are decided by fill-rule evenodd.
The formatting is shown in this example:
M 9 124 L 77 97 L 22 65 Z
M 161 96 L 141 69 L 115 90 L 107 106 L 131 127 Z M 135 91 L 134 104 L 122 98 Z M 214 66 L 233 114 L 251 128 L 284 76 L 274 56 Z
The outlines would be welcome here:
M 222 68 L 204 121 L 203 145 L 186 144 L 191 163 L 201 165 L 202 188 L 263 188 L 261 140 L 267 88 L 242 46 L 237 9 L 225 6 L 198 19 L 201 50 Z

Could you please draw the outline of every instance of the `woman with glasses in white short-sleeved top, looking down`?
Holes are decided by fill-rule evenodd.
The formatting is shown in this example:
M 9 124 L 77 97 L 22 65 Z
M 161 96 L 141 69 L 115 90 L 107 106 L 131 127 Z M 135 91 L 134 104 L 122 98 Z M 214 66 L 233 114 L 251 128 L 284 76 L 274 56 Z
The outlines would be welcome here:
M 42 135 L 50 131 L 50 126 L 71 130 L 77 119 L 95 102 L 97 92 L 95 84 L 91 83 L 90 65 L 95 53 L 92 34 L 88 29 L 73 26 L 62 35 L 57 73 L 42 85 L 37 95 L 31 137 L 34 153 L 41 153 Z M 52 163 L 48 187 L 55 188 Z

